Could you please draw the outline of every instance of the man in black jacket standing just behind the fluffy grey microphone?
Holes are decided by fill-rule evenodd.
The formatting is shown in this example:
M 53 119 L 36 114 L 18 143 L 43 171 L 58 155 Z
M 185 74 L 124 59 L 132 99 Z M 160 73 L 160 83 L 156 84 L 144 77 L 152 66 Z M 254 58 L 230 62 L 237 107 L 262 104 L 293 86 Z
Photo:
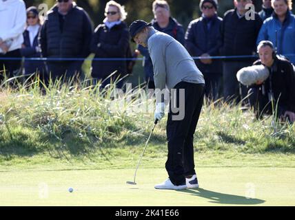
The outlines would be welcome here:
M 223 46 L 221 55 L 223 56 L 248 56 L 256 52 L 256 39 L 262 25 L 261 17 L 255 12 L 254 20 L 247 14 L 246 5 L 251 4 L 251 0 L 234 0 L 235 9 L 225 12 L 223 25 L 221 26 L 221 36 Z M 254 13 L 254 12 L 252 12 Z M 236 98 L 239 100 L 247 94 L 247 89 L 241 86 L 236 80 L 236 73 L 239 69 L 252 65 L 251 58 L 226 59 L 223 63 L 223 93 L 225 100 Z

